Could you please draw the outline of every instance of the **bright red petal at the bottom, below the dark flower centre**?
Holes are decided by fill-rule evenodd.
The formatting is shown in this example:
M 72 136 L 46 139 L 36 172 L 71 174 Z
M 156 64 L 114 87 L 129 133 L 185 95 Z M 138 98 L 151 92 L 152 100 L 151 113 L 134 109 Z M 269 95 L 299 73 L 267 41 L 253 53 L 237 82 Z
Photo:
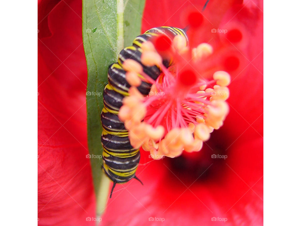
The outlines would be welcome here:
M 248 136 L 257 138 L 245 142 Z M 117 185 L 101 225 L 153 225 L 151 217 L 164 218 L 168 225 L 221 223 L 212 222 L 212 217 L 227 218 L 229 225 L 262 225 L 262 142 L 253 129 L 248 129 L 230 147 L 228 159 L 213 163 L 215 178 L 211 180 L 206 180 L 205 174 L 194 183 L 197 178 L 183 180 L 171 172 L 166 159 L 139 167 L 137 175 L 144 182 L 143 188 L 137 181 Z M 123 207 L 124 203 L 131 208 Z

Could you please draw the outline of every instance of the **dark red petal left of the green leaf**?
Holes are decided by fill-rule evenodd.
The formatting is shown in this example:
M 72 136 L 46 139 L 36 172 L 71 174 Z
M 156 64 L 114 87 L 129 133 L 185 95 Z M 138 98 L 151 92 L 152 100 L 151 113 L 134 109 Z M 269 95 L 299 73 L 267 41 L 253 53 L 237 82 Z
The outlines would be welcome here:
M 39 18 L 45 18 L 38 41 L 39 225 L 95 223 L 86 221 L 95 214 L 95 195 L 86 158 L 87 66 L 81 12 L 80 1 L 39 4 Z

